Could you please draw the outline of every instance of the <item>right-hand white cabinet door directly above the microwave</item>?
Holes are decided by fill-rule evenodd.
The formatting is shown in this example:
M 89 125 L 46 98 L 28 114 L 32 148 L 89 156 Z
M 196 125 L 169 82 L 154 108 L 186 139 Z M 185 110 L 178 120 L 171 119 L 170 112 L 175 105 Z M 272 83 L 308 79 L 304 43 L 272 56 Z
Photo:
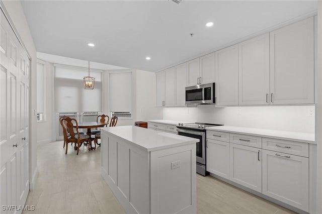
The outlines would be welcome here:
M 199 83 L 215 82 L 215 53 L 200 57 Z

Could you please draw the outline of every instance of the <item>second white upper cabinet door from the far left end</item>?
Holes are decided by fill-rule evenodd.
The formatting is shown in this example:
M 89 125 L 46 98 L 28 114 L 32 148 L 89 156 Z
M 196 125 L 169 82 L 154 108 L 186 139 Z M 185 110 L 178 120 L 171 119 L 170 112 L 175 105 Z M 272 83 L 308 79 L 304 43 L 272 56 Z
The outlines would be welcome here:
M 175 68 L 171 67 L 165 70 L 166 99 L 165 106 L 175 105 Z

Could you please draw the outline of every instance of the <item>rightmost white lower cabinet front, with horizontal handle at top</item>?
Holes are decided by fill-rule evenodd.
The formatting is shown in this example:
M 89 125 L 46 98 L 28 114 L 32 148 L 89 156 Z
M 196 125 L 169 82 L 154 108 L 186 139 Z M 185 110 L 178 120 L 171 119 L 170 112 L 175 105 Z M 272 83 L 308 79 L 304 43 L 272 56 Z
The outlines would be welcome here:
M 306 157 L 263 150 L 263 194 L 308 211 Z

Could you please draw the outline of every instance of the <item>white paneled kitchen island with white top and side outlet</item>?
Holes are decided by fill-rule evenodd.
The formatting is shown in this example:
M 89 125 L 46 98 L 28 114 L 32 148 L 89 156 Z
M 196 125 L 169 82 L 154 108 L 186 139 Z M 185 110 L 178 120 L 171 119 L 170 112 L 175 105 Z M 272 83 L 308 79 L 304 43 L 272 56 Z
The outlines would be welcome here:
M 196 213 L 196 139 L 102 128 L 101 173 L 127 213 Z

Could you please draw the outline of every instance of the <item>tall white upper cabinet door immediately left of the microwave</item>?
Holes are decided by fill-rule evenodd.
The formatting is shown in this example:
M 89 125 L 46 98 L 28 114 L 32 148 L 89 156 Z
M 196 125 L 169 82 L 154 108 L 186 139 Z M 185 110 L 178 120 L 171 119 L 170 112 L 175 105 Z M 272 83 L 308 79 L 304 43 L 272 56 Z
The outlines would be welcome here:
M 187 63 L 175 67 L 176 77 L 176 106 L 186 104 Z

